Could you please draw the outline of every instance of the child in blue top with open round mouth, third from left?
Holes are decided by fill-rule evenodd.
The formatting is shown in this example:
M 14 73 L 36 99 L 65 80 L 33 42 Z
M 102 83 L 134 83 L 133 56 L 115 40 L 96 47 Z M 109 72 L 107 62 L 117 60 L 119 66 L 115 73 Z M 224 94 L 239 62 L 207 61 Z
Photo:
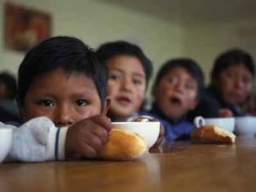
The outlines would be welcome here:
M 203 86 L 204 74 L 193 60 L 169 60 L 159 69 L 152 87 L 154 104 L 144 114 L 160 120 L 166 142 L 189 139 L 194 125 L 186 121 L 186 114 L 196 107 Z

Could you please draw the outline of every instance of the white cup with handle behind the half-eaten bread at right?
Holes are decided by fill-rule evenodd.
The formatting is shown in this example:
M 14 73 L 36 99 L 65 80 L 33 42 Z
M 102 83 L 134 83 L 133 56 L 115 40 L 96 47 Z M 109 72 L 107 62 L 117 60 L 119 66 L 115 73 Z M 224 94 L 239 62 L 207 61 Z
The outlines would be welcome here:
M 196 116 L 194 119 L 196 127 L 202 125 L 217 125 L 223 127 L 229 132 L 233 132 L 235 129 L 235 118 L 234 117 L 223 117 L 223 118 L 204 118 L 202 116 Z

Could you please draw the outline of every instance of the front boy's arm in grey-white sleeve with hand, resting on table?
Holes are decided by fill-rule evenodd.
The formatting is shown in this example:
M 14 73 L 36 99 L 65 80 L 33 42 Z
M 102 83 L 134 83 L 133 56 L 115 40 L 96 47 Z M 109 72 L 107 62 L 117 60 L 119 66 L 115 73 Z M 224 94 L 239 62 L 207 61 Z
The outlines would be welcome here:
M 33 118 L 20 127 L 2 126 L 13 129 L 12 147 L 5 162 L 63 161 L 82 156 L 93 157 L 108 140 L 111 130 L 110 120 L 106 116 L 86 118 L 69 128 L 56 128 L 46 117 Z

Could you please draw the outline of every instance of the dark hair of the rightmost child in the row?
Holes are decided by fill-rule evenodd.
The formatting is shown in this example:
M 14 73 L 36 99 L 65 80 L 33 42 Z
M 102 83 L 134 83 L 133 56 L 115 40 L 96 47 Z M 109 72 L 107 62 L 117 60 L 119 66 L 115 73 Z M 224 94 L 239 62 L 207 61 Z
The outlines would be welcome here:
M 225 68 L 230 65 L 244 65 L 252 76 L 255 76 L 255 67 L 250 54 L 241 49 L 230 49 L 216 58 L 212 68 L 212 76 L 218 77 Z

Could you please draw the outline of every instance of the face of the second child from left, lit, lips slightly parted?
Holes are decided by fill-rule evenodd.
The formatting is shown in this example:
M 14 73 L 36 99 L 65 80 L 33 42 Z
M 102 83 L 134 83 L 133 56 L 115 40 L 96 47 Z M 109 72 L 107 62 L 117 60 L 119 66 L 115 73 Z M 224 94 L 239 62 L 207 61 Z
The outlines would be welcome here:
M 127 118 L 137 111 L 144 99 L 146 76 L 140 61 L 133 56 L 115 56 L 107 61 L 109 69 L 109 110 Z

